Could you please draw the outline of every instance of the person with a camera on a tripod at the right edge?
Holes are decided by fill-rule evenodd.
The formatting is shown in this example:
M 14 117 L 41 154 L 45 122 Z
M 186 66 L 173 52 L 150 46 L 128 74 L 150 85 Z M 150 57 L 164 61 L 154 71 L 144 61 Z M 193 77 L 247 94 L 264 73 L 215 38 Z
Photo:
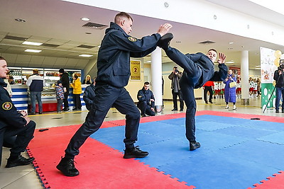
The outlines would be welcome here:
M 284 98 L 284 62 L 280 62 L 280 66 L 274 72 L 273 79 L 276 81 L 275 88 L 276 88 L 276 101 L 275 101 L 275 113 L 279 113 L 279 105 L 281 95 Z M 282 113 L 284 113 L 284 103 L 281 105 Z

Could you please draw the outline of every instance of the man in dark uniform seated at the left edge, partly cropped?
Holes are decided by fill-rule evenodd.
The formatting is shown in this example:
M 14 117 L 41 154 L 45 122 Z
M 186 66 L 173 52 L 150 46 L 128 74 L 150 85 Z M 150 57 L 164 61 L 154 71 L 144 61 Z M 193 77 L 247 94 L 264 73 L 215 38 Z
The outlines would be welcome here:
M 28 143 L 33 138 L 35 122 L 28 118 L 25 111 L 18 112 L 13 105 L 4 82 L 9 69 L 4 57 L 0 57 L 0 165 L 2 158 L 2 147 L 4 142 L 11 140 L 10 157 L 6 168 L 24 166 L 31 164 L 34 158 L 24 158 L 21 152 L 25 151 Z M 14 139 L 16 136 L 16 139 Z M 7 145 L 5 145 L 7 147 Z

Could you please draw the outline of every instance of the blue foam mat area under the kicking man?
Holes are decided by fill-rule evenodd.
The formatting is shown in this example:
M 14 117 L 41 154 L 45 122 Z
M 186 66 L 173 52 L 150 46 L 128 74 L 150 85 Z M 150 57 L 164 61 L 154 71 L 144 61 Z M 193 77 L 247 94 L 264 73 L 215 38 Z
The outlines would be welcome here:
M 123 151 L 124 126 L 103 128 L 92 138 Z M 249 188 L 284 170 L 283 123 L 196 117 L 201 148 L 188 150 L 185 118 L 141 123 L 137 145 L 149 151 L 139 159 L 197 188 Z

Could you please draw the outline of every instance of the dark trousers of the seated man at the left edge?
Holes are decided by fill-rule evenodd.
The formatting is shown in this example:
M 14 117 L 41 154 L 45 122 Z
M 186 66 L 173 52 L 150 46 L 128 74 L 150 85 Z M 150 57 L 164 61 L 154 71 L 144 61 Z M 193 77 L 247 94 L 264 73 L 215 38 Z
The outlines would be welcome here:
M 16 136 L 16 139 L 13 142 L 13 147 L 11 147 L 11 155 L 18 156 L 21 152 L 26 150 L 28 143 L 33 138 L 33 132 L 35 131 L 35 122 L 32 120 L 25 127 L 13 127 L 7 126 L 0 129 L 0 165 L 2 158 L 2 147 L 6 139 L 13 139 Z M 5 142 L 6 143 L 6 142 Z M 10 141 L 11 143 L 11 141 Z

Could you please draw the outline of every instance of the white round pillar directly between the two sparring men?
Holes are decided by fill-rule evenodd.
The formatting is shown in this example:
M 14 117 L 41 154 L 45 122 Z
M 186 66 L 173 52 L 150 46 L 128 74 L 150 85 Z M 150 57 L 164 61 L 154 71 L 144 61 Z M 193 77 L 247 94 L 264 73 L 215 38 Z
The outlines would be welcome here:
M 162 95 L 162 50 L 157 47 L 151 53 L 151 78 L 152 91 L 155 96 L 155 108 L 157 113 L 161 113 L 163 108 Z

